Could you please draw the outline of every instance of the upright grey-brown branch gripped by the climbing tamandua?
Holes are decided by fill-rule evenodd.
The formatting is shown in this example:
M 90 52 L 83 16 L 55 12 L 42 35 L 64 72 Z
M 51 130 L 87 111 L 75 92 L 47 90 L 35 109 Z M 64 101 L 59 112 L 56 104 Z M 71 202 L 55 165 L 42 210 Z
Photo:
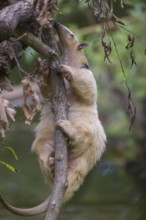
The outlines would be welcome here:
M 44 40 L 48 45 L 52 45 L 56 51 L 56 41 L 52 29 L 45 30 L 43 33 Z M 48 39 L 45 37 L 49 36 Z M 46 42 L 45 42 L 46 43 Z M 59 120 L 67 119 L 68 115 L 68 101 L 66 98 L 65 85 L 61 73 L 58 72 L 60 60 L 57 56 L 53 56 L 51 60 L 50 76 L 53 85 L 53 112 L 55 116 L 55 123 Z M 54 70 L 56 70 L 56 74 Z M 48 210 L 45 220 L 57 220 L 65 188 L 67 186 L 67 141 L 66 137 L 59 128 L 55 131 L 55 180 L 53 185 L 53 191 L 51 194 L 51 200 L 49 201 Z

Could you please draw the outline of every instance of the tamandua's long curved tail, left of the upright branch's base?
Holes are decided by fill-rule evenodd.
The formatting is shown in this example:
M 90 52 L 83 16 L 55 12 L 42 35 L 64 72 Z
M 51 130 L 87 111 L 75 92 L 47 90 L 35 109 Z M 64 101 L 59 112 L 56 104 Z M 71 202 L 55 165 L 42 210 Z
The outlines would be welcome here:
M 47 211 L 48 203 L 49 203 L 50 197 L 48 197 L 44 202 L 41 204 L 33 207 L 33 208 L 17 208 L 15 206 L 10 205 L 8 202 L 6 202 L 2 196 L 0 195 L 0 203 L 10 212 L 19 215 L 19 216 L 36 216 L 40 215 Z

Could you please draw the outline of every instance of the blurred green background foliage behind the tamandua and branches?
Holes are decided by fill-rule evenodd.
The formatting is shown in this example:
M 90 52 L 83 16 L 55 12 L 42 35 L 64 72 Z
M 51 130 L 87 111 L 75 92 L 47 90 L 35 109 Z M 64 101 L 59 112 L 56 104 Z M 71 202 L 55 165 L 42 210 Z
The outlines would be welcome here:
M 114 12 L 125 22 L 123 28 L 111 28 L 120 59 L 124 67 L 137 114 L 129 131 L 128 91 L 124 83 L 120 61 L 114 43 L 111 63 L 104 61 L 101 31 L 84 1 L 59 1 L 61 13 L 56 20 L 70 27 L 82 42 L 88 42 L 85 50 L 90 68 L 98 85 L 99 117 L 107 134 L 107 150 L 96 167 L 88 175 L 75 197 L 66 204 L 60 220 L 145 220 L 146 219 L 146 2 L 145 0 L 120 1 L 114 4 Z M 132 33 L 132 34 L 131 34 Z M 130 50 L 125 46 L 128 34 L 134 35 L 133 54 L 137 65 L 131 67 Z M 21 65 L 31 70 L 37 54 L 32 49 L 24 52 Z M 11 74 L 13 84 L 20 83 L 21 74 L 15 68 Z M 13 173 L 0 165 L 0 192 L 12 204 L 31 207 L 43 201 L 50 193 L 44 183 L 35 155 L 31 153 L 33 130 L 39 121 L 28 127 L 18 109 L 16 123 L 12 123 L 7 137 L 0 141 L 0 160 L 13 165 L 19 172 Z M 12 147 L 18 155 L 15 160 L 6 148 Z M 0 206 L 1 220 L 17 220 Z M 29 219 L 44 219 L 44 216 Z

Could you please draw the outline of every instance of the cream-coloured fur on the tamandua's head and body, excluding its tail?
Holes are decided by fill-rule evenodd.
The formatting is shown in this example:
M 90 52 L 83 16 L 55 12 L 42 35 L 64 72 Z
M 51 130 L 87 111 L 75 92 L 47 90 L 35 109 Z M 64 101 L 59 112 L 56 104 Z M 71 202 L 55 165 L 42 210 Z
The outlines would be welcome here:
M 101 158 L 106 136 L 98 118 L 96 82 L 91 70 L 81 68 L 87 60 L 83 51 L 77 49 L 79 42 L 75 37 L 69 38 L 70 30 L 62 25 L 57 27 L 57 32 L 64 50 L 64 65 L 60 68 L 70 103 L 69 120 L 57 123 L 68 139 L 68 187 L 64 195 L 65 202 L 73 196 L 85 176 Z M 50 96 L 44 104 L 41 120 L 36 128 L 32 151 L 38 155 L 42 171 L 52 184 L 50 158 L 54 157 L 55 126 Z

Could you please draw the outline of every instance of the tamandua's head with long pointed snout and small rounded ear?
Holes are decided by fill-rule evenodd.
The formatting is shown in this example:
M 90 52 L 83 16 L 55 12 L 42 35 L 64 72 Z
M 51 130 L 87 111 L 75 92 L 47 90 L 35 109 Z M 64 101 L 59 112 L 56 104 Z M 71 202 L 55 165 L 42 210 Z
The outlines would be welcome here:
M 83 49 L 88 47 L 88 44 L 80 43 L 74 33 L 60 23 L 55 22 L 54 28 L 57 31 L 61 44 L 64 64 L 75 68 L 88 69 L 88 61 L 83 52 Z

